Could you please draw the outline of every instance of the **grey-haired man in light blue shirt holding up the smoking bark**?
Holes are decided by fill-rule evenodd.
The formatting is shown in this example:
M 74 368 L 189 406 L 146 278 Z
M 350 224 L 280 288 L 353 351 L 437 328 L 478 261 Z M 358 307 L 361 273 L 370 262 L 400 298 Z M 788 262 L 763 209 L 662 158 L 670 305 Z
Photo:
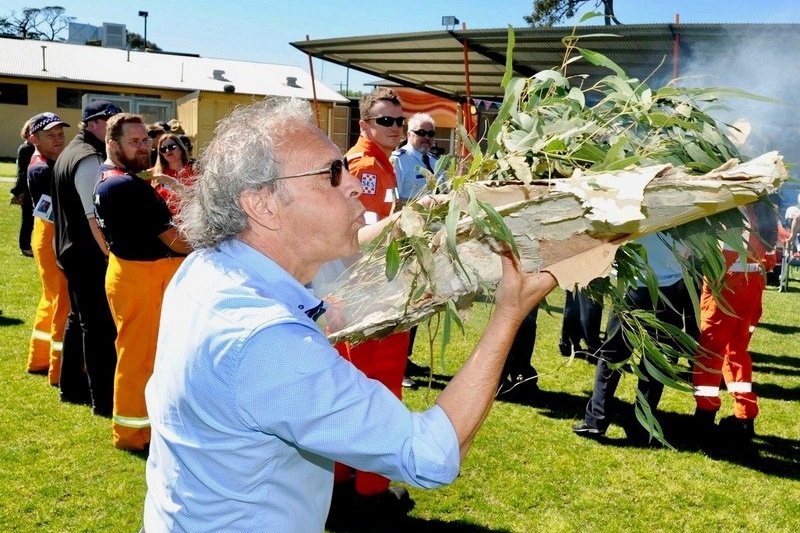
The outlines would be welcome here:
M 142 531 L 322 533 L 334 461 L 417 488 L 458 477 L 514 332 L 555 278 L 501 253 L 482 339 L 436 404 L 412 413 L 315 321 L 326 304 L 307 285 L 369 229 L 341 157 L 309 102 L 277 98 L 235 109 L 203 151 L 178 222 L 195 251 L 164 295 L 145 391 Z M 378 520 L 363 530 L 400 521 Z

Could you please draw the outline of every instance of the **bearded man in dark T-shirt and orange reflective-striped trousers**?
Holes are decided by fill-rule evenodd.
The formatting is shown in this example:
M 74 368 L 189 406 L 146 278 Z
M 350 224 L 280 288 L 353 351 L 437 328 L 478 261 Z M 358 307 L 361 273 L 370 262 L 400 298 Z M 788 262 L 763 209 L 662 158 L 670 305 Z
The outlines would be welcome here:
M 150 166 L 142 117 L 119 113 L 106 129 L 108 159 L 100 166 L 94 207 L 110 255 L 106 295 L 117 326 L 114 446 L 150 444 L 144 388 L 153 373 L 164 290 L 191 250 L 178 237 L 166 201 L 136 174 Z

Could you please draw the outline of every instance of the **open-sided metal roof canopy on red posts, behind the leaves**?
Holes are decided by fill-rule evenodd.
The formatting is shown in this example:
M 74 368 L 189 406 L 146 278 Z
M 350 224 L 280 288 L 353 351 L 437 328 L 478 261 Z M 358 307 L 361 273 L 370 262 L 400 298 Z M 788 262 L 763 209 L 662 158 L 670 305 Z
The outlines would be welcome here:
M 636 24 L 579 26 L 575 34 L 595 35 L 578 42 L 582 48 L 606 55 L 631 77 L 673 78 L 673 51 L 681 62 L 708 46 L 730 46 L 749 39 L 768 38 L 780 46 L 782 35 L 797 35 L 799 24 Z M 515 75 L 529 77 L 559 67 L 566 48 L 562 39 L 572 28 L 514 28 Z M 788 40 L 788 39 L 787 39 Z M 794 40 L 794 39 L 793 39 Z M 291 43 L 295 48 L 344 67 L 432 94 L 464 100 L 465 47 L 468 50 L 469 96 L 500 100 L 505 74 L 508 29 L 444 30 L 317 39 Z M 798 51 L 800 53 L 800 51 Z M 568 74 L 588 75 L 591 83 L 611 73 L 580 59 Z

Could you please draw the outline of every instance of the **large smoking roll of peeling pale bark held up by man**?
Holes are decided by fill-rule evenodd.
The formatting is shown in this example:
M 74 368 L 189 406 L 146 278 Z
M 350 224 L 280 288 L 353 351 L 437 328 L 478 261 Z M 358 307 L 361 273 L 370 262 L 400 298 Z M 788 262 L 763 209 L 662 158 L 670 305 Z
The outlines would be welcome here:
M 703 175 L 656 165 L 532 184 L 476 182 L 475 196 L 495 207 L 516 241 L 525 270 L 549 270 L 571 288 L 607 271 L 616 247 L 757 200 L 786 179 L 783 159 L 769 152 L 746 163 L 733 159 Z M 466 202 L 462 190 L 450 201 Z M 404 209 L 410 209 L 405 207 Z M 332 342 L 382 337 L 441 311 L 458 309 L 496 286 L 498 243 L 469 217 L 456 230 L 458 261 L 445 229 L 432 239 L 425 272 L 419 258 L 387 280 L 385 249 L 370 250 L 326 288 Z M 432 264 L 431 264 L 432 263 Z

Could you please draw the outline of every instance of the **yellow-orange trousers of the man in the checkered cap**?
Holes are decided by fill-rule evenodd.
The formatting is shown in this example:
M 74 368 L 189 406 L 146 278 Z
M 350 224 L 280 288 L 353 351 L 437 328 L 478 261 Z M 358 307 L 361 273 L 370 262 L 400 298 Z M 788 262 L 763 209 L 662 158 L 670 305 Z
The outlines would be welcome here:
M 36 307 L 28 351 L 28 372 L 47 372 L 50 384 L 61 376 L 61 347 L 69 315 L 67 278 L 56 262 L 54 224 L 35 217 L 31 249 L 42 281 L 42 296 Z

